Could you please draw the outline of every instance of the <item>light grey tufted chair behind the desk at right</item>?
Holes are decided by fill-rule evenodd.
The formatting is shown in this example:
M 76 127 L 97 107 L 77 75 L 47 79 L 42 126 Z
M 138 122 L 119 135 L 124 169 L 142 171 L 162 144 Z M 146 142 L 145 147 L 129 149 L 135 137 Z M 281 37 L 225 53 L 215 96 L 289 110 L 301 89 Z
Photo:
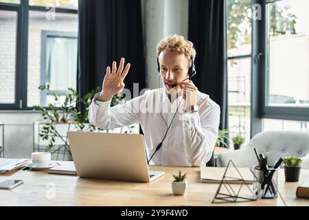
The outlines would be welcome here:
M 258 153 L 267 156 L 268 165 L 274 165 L 279 157 L 302 157 L 302 168 L 309 168 L 309 133 L 300 131 L 264 131 L 255 135 L 249 144 L 240 150 L 220 153 L 218 166 L 227 166 L 229 159 L 238 167 L 258 165 Z

